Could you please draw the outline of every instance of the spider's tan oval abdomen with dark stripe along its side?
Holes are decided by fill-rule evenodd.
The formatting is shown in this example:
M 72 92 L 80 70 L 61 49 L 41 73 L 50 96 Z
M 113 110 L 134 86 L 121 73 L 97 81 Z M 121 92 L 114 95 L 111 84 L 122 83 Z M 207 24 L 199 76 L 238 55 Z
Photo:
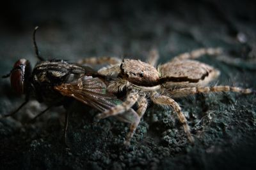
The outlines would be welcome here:
M 214 67 L 196 60 L 173 60 L 159 66 L 166 88 L 205 86 L 220 75 Z

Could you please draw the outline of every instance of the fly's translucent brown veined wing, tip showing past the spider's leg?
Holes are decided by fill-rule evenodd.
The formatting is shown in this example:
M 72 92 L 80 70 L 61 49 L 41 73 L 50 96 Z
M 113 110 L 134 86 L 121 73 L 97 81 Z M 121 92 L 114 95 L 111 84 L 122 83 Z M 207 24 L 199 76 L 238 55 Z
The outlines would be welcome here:
M 92 76 L 82 76 L 69 83 L 61 83 L 61 85 L 55 86 L 54 89 L 63 96 L 73 97 L 77 101 L 81 101 L 102 112 L 123 102 L 107 91 L 106 85 L 102 80 Z M 128 123 L 137 122 L 140 119 L 132 109 L 125 114 L 116 116 L 116 118 Z

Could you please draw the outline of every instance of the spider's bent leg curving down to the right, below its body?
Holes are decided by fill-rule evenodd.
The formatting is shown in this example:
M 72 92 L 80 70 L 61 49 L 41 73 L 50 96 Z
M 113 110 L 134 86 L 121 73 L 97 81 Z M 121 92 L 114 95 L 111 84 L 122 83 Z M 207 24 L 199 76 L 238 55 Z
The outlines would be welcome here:
M 190 133 L 190 128 L 189 128 L 188 122 L 186 120 L 184 113 L 182 113 L 179 104 L 177 102 L 175 102 L 172 98 L 170 98 L 168 96 L 163 96 L 157 92 L 154 92 L 150 98 L 156 104 L 168 105 L 173 108 L 173 110 L 177 113 L 180 122 L 182 123 L 182 126 L 188 136 L 189 141 L 191 143 L 194 143 L 194 138 Z

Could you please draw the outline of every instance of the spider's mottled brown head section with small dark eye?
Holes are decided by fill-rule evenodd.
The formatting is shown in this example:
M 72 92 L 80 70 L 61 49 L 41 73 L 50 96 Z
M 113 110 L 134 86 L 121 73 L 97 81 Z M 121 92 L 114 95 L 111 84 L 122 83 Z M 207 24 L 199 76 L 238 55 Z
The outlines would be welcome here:
M 150 87 L 159 80 L 157 69 L 140 60 L 124 59 L 119 76 L 138 86 Z

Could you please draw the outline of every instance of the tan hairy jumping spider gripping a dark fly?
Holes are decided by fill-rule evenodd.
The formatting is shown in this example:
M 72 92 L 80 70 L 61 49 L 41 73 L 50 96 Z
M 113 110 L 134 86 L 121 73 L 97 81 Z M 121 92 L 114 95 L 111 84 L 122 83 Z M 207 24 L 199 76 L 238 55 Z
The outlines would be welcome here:
M 219 55 L 220 53 L 222 53 L 221 48 L 200 48 L 190 53 L 182 53 L 174 57 L 170 62 L 157 66 L 157 69 L 155 67 L 159 57 L 157 50 L 150 52 L 148 63 L 134 59 L 124 59 L 120 62 L 119 59 L 113 57 L 89 58 L 80 62 L 95 64 L 101 63 L 100 61 L 106 62 L 108 59 L 111 60 L 113 65 L 103 67 L 98 73 L 114 77 L 114 80 L 108 85 L 109 91 L 117 93 L 124 92 L 125 90 L 127 92 L 124 103 L 104 111 L 97 115 L 97 118 L 102 119 L 125 113 L 135 103 L 138 103 L 138 110 L 136 112 L 141 118 L 147 109 L 147 97 L 149 97 L 153 103 L 173 108 L 182 123 L 189 141 L 193 143 L 194 138 L 189 130 L 186 117 L 179 104 L 173 98 L 209 92 L 252 93 L 251 89 L 241 89 L 240 87 L 222 85 L 206 87 L 210 81 L 218 78 L 220 71 L 193 59 L 202 55 Z M 115 60 L 116 63 L 113 62 Z M 129 145 L 139 123 L 140 121 L 132 123 L 125 141 L 126 145 Z

